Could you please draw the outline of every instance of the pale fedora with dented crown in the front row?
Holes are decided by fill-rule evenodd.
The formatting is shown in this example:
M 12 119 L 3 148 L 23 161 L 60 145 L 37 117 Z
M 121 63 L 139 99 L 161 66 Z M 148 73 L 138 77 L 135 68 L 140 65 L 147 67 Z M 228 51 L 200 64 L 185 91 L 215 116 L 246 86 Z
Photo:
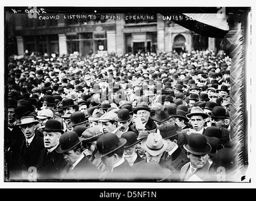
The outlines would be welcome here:
M 152 156 L 163 153 L 167 145 L 167 141 L 159 133 L 150 133 L 147 139 L 143 139 L 142 141 L 142 148 Z

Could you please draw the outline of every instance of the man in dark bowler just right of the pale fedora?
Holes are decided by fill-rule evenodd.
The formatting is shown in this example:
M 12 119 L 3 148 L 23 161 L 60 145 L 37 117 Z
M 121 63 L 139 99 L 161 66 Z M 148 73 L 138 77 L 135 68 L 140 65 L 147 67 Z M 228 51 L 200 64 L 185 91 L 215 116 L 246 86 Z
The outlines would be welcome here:
M 162 155 L 162 160 L 165 163 L 173 166 L 177 172 L 181 171 L 184 164 L 189 162 L 186 153 L 182 151 L 181 147 L 177 144 L 178 134 L 175 126 L 173 124 L 165 124 L 161 126 L 160 135 L 168 143 L 164 154 Z

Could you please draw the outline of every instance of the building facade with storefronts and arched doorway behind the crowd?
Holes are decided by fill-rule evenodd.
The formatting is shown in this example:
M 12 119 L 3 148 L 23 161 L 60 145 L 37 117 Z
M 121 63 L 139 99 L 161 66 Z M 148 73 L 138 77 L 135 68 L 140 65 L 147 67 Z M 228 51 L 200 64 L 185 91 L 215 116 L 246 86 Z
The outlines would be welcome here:
M 220 50 L 220 38 L 200 36 L 161 14 L 44 14 L 29 18 L 16 14 L 8 18 L 13 33 L 8 53 L 28 52 L 87 55 L 184 50 Z M 8 20 L 7 19 L 7 20 Z

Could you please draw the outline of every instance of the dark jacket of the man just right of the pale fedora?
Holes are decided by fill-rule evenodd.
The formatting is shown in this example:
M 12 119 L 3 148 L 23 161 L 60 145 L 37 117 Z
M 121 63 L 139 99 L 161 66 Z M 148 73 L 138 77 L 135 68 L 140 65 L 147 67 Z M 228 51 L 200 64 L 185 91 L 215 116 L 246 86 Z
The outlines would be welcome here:
M 181 171 L 182 166 L 184 166 L 187 162 L 189 162 L 189 158 L 187 158 L 186 153 L 182 151 L 181 147 L 178 147 L 172 155 L 168 156 L 168 152 L 165 151 L 162 155 L 162 160 L 173 166 L 177 172 Z

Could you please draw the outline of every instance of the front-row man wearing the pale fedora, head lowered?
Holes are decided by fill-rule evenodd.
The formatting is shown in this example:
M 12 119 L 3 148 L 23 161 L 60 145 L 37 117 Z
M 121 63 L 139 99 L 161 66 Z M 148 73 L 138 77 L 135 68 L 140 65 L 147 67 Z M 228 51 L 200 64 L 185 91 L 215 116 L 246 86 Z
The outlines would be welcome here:
M 135 163 L 133 169 L 136 171 L 140 166 L 145 165 L 145 163 L 154 162 L 159 164 L 162 168 L 167 168 L 171 171 L 172 181 L 179 180 L 179 173 L 172 165 L 165 163 L 162 159 L 168 143 L 159 133 L 149 133 L 146 139 L 142 141 L 142 148 L 146 151 L 146 159 Z M 145 168 L 147 170 L 147 168 Z

